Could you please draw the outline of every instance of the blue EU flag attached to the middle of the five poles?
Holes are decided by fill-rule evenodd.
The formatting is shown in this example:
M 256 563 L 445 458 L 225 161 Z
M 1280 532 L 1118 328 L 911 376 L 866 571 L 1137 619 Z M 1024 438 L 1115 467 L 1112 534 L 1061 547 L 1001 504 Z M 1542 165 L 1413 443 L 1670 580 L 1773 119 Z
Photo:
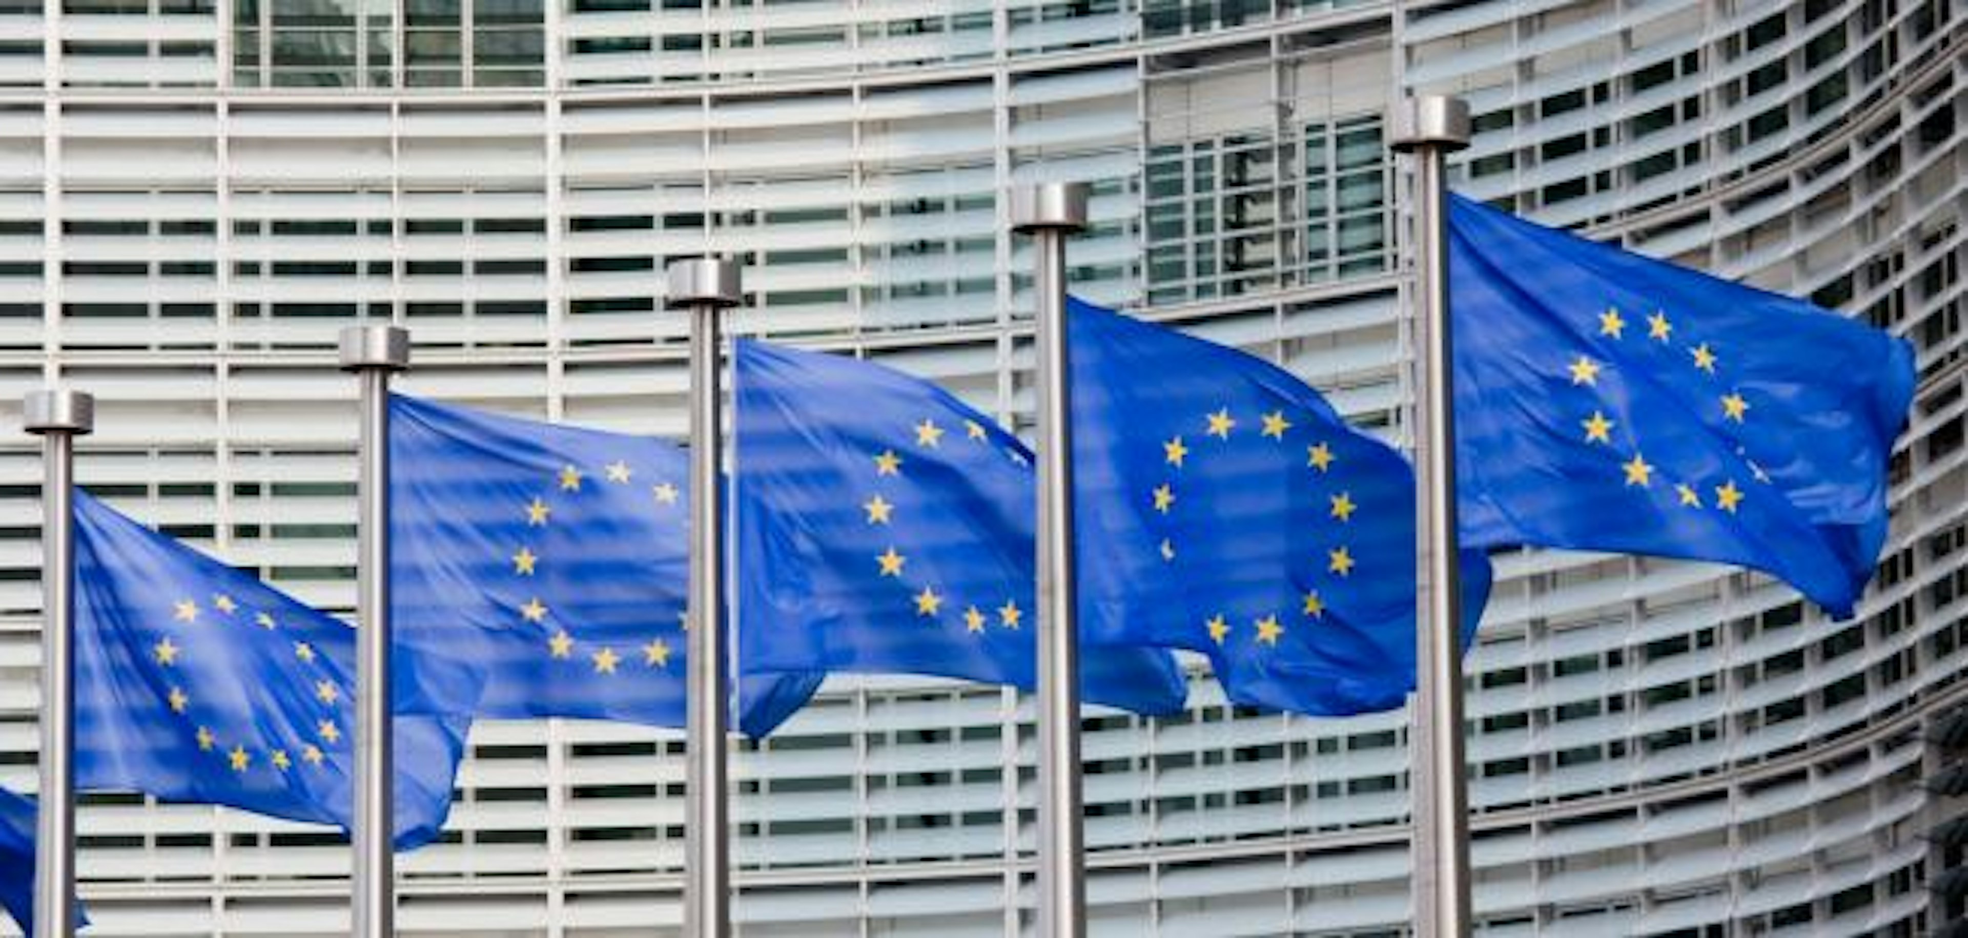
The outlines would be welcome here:
M 1031 454 L 937 385 L 740 340 L 740 669 L 913 673 L 1031 690 Z M 1090 702 L 1183 708 L 1165 651 L 1086 647 Z

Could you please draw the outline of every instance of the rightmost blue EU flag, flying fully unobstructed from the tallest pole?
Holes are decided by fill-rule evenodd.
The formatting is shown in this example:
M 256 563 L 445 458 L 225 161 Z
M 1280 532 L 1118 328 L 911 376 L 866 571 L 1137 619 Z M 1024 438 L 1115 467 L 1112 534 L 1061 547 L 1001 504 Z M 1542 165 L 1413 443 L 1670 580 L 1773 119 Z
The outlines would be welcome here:
M 1462 197 L 1448 246 L 1466 545 L 1730 562 L 1852 614 L 1907 342 Z

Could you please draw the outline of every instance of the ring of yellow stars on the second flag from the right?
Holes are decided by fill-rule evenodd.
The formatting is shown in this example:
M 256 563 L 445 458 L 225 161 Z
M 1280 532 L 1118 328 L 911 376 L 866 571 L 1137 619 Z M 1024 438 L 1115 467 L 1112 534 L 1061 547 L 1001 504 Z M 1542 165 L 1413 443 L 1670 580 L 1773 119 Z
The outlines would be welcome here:
M 1256 431 L 1260 442 L 1267 442 L 1271 446 L 1301 444 L 1301 442 L 1287 442 L 1287 439 L 1291 439 L 1291 431 L 1297 425 L 1283 409 L 1275 409 L 1271 413 L 1260 413 L 1256 415 L 1256 419 L 1258 419 Z M 1238 427 L 1246 429 L 1238 431 Z M 1171 517 L 1181 499 L 1179 494 L 1181 474 L 1189 466 L 1191 458 L 1199 454 L 1197 446 L 1202 446 L 1200 452 L 1206 454 L 1210 452 L 1210 448 L 1228 444 L 1232 437 L 1236 437 L 1238 433 L 1250 433 L 1246 421 L 1240 421 L 1238 415 L 1230 413 L 1230 407 L 1218 407 L 1216 411 L 1202 415 L 1202 433 L 1197 442 L 1191 442 L 1183 435 L 1175 435 L 1167 440 L 1161 440 L 1161 462 L 1163 466 L 1167 466 L 1169 478 L 1147 492 L 1149 509 L 1155 511 L 1155 515 Z M 1303 442 L 1303 446 L 1305 446 L 1307 472 L 1315 472 L 1319 476 L 1330 476 L 1332 468 L 1340 462 L 1338 452 L 1334 452 L 1330 440 L 1313 439 L 1311 442 Z M 1352 515 L 1358 509 L 1360 505 L 1358 501 L 1354 501 L 1352 492 L 1348 490 L 1340 490 L 1332 496 L 1326 496 L 1326 517 L 1334 525 L 1338 525 L 1340 531 L 1344 531 L 1346 525 L 1352 523 Z M 1358 562 L 1352 557 L 1352 547 L 1340 543 L 1334 547 L 1326 547 L 1322 551 L 1324 557 L 1315 558 L 1315 562 L 1319 562 L 1319 566 L 1324 570 L 1326 576 L 1338 580 L 1352 576 L 1354 566 L 1358 566 Z M 1177 545 L 1171 537 L 1163 537 L 1155 545 L 1155 553 L 1161 557 L 1163 562 L 1175 562 L 1179 557 Z M 1321 594 L 1317 588 L 1307 590 L 1299 598 L 1297 614 L 1299 619 L 1303 621 L 1322 619 L 1326 616 L 1326 596 Z M 1254 616 L 1250 621 L 1232 621 L 1224 614 L 1212 614 L 1202 621 L 1202 633 L 1208 635 L 1212 645 L 1224 647 L 1232 639 L 1232 635 L 1240 635 L 1242 631 L 1248 629 L 1256 645 L 1275 649 L 1277 643 L 1289 631 L 1291 627 L 1289 621 L 1291 616 L 1279 612 Z

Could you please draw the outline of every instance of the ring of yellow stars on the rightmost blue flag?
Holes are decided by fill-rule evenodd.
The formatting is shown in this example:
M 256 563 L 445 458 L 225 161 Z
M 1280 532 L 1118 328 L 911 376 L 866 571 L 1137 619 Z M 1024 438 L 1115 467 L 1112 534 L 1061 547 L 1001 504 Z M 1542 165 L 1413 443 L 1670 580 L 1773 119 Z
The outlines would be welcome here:
M 1626 342 L 1628 340 L 1626 330 L 1630 326 L 1635 324 L 1628 322 L 1628 319 L 1616 307 L 1608 307 L 1604 313 L 1598 315 L 1598 336 L 1604 340 Z M 1673 350 L 1675 324 L 1673 321 L 1667 319 L 1665 311 L 1655 311 L 1653 315 L 1645 317 L 1645 326 L 1647 334 L 1645 336 L 1635 334 L 1633 340 L 1659 344 L 1661 348 Z M 1714 350 L 1714 346 L 1710 346 L 1708 342 L 1696 342 L 1687 346 L 1685 352 L 1687 352 L 1687 368 L 1692 368 L 1696 372 L 1696 380 L 1702 381 L 1720 380 L 1724 362 L 1722 356 Z M 1567 364 L 1567 374 L 1574 387 L 1590 389 L 1598 387 L 1600 374 L 1606 372 L 1608 368 L 1610 368 L 1608 362 L 1600 362 L 1594 360 L 1592 356 L 1580 354 L 1574 356 L 1570 364 Z M 1724 429 L 1732 423 L 1746 425 L 1750 421 L 1752 405 L 1750 399 L 1744 397 L 1740 387 L 1728 387 L 1724 393 L 1714 393 L 1714 399 L 1716 399 L 1716 413 Z M 1578 421 L 1580 440 L 1586 446 L 1608 446 L 1618 452 L 1620 446 L 1614 440 L 1614 431 L 1620 425 L 1614 419 L 1610 419 L 1602 409 L 1592 409 L 1590 415 Z M 1750 460 L 1740 446 L 1736 452 L 1738 456 L 1744 456 L 1752 476 L 1757 482 L 1769 482 L 1769 476 L 1763 472 L 1761 466 L 1755 464 L 1755 460 Z M 1679 507 L 1691 511 L 1716 509 L 1734 515 L 1748 498 L 1748 494 L 1742 490 L 1742 486 L 1736 484 L 1734 478 L 1724 478 L 1720 486 L 1714 484 L 1702 486 L 1696 480 L 1669 480 L 1669 478 L 1657 480 L 1655 478 L 1657 472 L 1659 468 L 1647 462 L 1647 456 L 1637 446 L 1631 450 L 1630 458 L 1620 462 L 1620 474 L 1626 488 L 1651 490 L 1655 482 L 1659 482 L 1673 494 L 1673 499 Z

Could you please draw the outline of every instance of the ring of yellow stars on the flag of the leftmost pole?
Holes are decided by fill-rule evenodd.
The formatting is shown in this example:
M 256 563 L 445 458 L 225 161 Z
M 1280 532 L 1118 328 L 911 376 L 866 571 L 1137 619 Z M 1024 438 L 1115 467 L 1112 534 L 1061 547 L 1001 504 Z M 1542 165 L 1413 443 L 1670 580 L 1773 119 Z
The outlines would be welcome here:
M 236 598 L 232 598 L 232 594 L 226 592 L 211 594 L 207 598 L 207 604 L 201 604 L 199 600 L 189 596 L 175 600 L 171 604 L 171 621 L 175 623 L 175 627 L 187 633 L 189 629 L 203 629 L 207 621 L 240 623 L 262 631 L 281 629 L 279 619 L 272 612 L 258 610 L 248 614 L 248 610 Z M 266 639 L 254 639 L 254 641 L 266 641 Z M 313 680 L 311 690 L 315 700 L 327 710 L 327 714 L 313 726 L 297 733 L 301 735 L 299 739 L 293 739 L 283 745 L 268 745 L 264 741 L 266 739 L 264 730 L 260 733 L 262 741 L 258 745 L 246 745 L 242 741 L 234 741 L 228 745 L 218 735 L 218 732 L 213 730 L 213 724 L 197 722 L 193 718 L 193 708 L 197 700 L 193 698 L 191 690 L 187 690 L 189 680 L 181 678 L 183 674 L 181 659 L 187 655 L 187 645 L 173 641 L 171 635 L 165 633 L 150 647 L 150 663 L 161 676 L 159 682 L 167 688 L 163 692 L 163 706 L 173 716 L 185 720 L 185 724 L 193 728 L 193 741 L 197 743 L 201 753 L 216 753 L 218 757 L 224 759 L 226 767 L 234 775 L 246 775 L 256 765 L 262 765 L 262 759 L 264 765 L 270 765 L 277 773 L 291 771 L 295 761 L 309 767 L 321 767 L 323 763 L 327 763 L 327 751 L 323 747 L 325 745 L 335 747 L 344 737 L 340 724 L 337 722 L 338 714 L 337 706 L 346 696 L 342 692 L 342 684 L 335 678 L 333 673 L 329 673 L 321 665 L 321 653 L 315 651 L 313 643 L 297 639 L 289 641 L 287 645 L 295 661 L 317 669 L 319 676 Z

